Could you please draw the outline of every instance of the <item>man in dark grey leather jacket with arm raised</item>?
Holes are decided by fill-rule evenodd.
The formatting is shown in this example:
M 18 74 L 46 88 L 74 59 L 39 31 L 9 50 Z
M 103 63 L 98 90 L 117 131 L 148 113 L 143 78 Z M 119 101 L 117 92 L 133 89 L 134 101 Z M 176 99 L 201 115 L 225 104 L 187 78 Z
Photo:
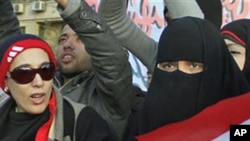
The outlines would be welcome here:
M 63 96 L 93 107 L 121 141 L 132 112 L 132 72 L 111 29 L 85 1 L 56 0 L 67 23 L 58 39 L 54 84 Z

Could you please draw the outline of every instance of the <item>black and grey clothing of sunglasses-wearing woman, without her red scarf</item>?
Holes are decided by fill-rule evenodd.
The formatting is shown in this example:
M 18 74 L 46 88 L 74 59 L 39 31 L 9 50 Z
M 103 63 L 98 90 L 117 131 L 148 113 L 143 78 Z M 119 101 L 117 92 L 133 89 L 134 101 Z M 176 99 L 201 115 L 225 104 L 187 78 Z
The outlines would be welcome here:
M 50 117 L 49 108 L 40 115 L 15 112 L 15 101 L 9 99 L 0 109 L 1 141 L 32 141 Z M 62 99 L 56 95 L 56 115 L 49 141 L 112 141 L 107 122 L 91 107 Z M 51 136 L 53 135 L 53 136 Z

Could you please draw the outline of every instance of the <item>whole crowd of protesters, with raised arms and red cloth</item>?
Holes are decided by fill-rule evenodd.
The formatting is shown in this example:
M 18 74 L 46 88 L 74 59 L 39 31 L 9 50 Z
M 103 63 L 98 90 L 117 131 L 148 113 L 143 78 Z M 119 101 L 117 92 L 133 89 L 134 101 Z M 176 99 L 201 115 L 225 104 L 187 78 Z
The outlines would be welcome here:
M 20 33 L 0 0 L 0 140 L 204 141 L 250 117 L 250 20 L 221 27 L 220 0 L 164 0 L 159 41 L 129 18 L 127 0 L 101 0 L 98 12 L 55 2 L 65 26 L 53 52 Z M 126 50 L 152 75 L 147 92 L 133 86 Z

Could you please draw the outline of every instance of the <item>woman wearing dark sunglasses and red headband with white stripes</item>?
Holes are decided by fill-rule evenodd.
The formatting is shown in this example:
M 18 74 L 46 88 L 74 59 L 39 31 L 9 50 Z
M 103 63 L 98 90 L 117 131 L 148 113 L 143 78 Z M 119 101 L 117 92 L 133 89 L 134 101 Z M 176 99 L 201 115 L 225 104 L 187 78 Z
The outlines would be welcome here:
M 34 35 L 18 34 L 0 45 L 0 88 L 11 97 L 0 109 L 0 140 L 112 140 L 96 111 L 56 92 L 55 69 L 50 46 Z

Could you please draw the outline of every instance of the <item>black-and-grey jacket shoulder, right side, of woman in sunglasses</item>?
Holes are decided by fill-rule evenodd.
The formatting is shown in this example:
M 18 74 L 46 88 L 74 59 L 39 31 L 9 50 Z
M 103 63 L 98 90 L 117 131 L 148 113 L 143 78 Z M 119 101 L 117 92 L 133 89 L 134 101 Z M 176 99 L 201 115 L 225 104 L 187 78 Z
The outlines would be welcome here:
M 112 140 L 112 133 L 107 121 L 93 107 L 76 103 L 67 97 L 64 97 L 63 101 L 65 116 L 67 116 L 65 124 L 76 130 L 76 140 L 82 138 Z M 69 123 L 70 121 L 74 121 L 74 126 Z

